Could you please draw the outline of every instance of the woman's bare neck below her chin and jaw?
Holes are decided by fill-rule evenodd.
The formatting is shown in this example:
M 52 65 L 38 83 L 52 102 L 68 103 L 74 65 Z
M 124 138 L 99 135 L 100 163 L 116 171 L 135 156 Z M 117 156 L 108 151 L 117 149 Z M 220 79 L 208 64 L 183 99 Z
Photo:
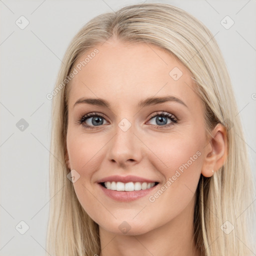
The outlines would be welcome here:
M 200 256 L 193 231 L 194 198 L 175 218 L 139 235 L 119 235 L 99 227 L 99 256 Z

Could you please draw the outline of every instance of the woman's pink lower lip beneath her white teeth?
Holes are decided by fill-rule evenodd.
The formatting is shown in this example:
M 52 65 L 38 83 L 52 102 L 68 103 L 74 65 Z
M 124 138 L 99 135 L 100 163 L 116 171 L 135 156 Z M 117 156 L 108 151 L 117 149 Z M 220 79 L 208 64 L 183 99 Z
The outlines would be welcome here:
M 134 190 L 134 191 L 117 191 L 117 190 L 107 189 L 99 183 L 98 185 L 101 187 L 102 191 L 110 198 L 116 201 L 129 202 L 149 194 L 155 187 L 159 185 L 159 183 L 155 186 L 152 186 L 144 190 L 141 189 L 141 190 Z

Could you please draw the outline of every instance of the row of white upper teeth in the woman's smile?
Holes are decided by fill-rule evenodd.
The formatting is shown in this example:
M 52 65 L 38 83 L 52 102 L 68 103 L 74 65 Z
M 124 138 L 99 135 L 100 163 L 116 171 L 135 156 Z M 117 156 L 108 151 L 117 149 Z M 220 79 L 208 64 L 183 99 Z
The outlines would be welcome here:
M 111 190 L 117 190 L 117 191 L 137 191 L 137 190 L 145 190 L 148 189 L 152 186 L 154 186 L 155 182 L 127 182 L 127 183 L 123 183 L 120 181 L 106 181 L 104 182 L 104 185 L 106 186 L 107 189 L 111 189 Z

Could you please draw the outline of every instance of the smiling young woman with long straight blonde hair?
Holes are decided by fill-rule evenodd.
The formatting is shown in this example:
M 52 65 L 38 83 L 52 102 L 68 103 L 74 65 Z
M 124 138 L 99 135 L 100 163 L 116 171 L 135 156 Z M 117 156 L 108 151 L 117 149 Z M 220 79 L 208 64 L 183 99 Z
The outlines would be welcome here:
M 171 5 L 130 5 L 90 20 L 63 63 L 47 252 L 251 255 L 252 175 L 211 32 Z

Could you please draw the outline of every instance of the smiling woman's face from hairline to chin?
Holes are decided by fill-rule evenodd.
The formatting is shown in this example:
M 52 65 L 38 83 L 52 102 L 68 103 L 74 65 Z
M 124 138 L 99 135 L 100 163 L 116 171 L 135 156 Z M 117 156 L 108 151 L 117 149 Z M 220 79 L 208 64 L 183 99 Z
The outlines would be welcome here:
M 191 215 L 208 141 L 188 71 L 149 43 L 95 48 L 77 61 L 87 57 L 68 99 L 68 167 L 80 204 L 100 228 L 119 234 Z M 112 175 L 107 186 L 115 190 L 99 183 Z

